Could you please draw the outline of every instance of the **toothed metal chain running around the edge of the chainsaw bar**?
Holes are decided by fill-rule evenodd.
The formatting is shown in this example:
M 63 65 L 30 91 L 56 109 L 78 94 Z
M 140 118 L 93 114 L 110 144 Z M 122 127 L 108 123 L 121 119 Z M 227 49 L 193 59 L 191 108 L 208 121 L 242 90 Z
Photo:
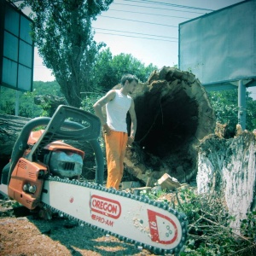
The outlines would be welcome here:
M 97 183 L 90 183 L 88 181 L 79 182 L 78 180 L 69 180 L 68 178 L 52 177 L 52 176 L 46 177 L 46 179 L 49 180 L 49 181 L 56 181 L 56 182 L 61 182 L 61 183 L 71 183 L 71 184 L 75 184 L 75 185 L 90 188 L 90 189 L 102 190 L 102 191 L 108 192 L 110 194 L 115 194 L 115 195 L 128 197 L 128 198 L 131 198 L 132 200 L 136 200 L 136 201 L 142 201 L 143 203 L 153 205 L 154 207 L 163 208 L 163 209 L 167 210 L 168 212 L 171 212 L 180 221 L 180 224 L 182 226 L 183 235 L 182 235 L 182 239 L 181 239 L 180 243 L 177 245 L 177 247 L 175 247 L 171 250 L 166 250 L 166 249 L 162 249 L 162 248 L 159 248 L 159 247 L 153 247 L 151 245 L 144 244 L 144 243 L 139 242 L 139 241 L 132 240 L 131 238 L 128 238 L 128 237 L 125 237 L 125 236 L 120 236 L 120 235 L 115 234 L 111 231 L 99 228 L 96 225 L 88 224 L 84 220 L 80 220 L 79 218 L 74 218 L 73 216 L 71 216 L 71 215 L 69 215 L 65 212 L 61 212 L 60 210 L 56 210 L 54 207 L 50 207 L 49 205 L 43 203 L 44 207 L 47 207 L 52 212 L 58 213 L 59 216 L 61 216 L 61 217 L 65 217 L 65 218 L 68 218 L 70 220 L 76 221 L 81 226 L 84 226 L 84 224 L 85 224 L 85 225 L 89 226 L 90 228 L 95 229 L 95 230 L 100 230 L 100 231 L 108 234 L 109 236 L 115 236 L 120 241 L 133 243 L 133 244 L 135 244 L 136 247 L 143 247 L 143 248 L 145 248 L 148 251 L 151 251 L 153 253 L 156 253 L 156 254 L 164 253 L 164 254 L 179 255 L 179 253 L 183 251 L 184 246 L 185 246 L 185 241 L 186 241 L 186 238 L 187 238 L 187 234 L 188 234 L 188 220 L 187 220 L 187 217 L 183 212 L 177 212 L 176 210 L 173 210 L 172 207 L 169 207 L 169 205 L 166 202 L 152 201 L 152 200 L 148 199 L 146 196 L 132 195 L 130 192 L 118 191 L 118 190 L 113 189 L 113 188 L 107 189 L 106 187 L 103 187 L 102 185 L 99 185 Z

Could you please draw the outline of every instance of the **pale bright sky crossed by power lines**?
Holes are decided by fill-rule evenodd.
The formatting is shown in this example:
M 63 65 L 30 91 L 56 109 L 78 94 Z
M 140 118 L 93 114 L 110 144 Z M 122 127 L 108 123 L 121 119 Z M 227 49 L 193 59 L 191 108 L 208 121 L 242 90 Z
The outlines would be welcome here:
M 241 0 L 114 0 L 93 21 L 95 41 L 107 44 L 113 55 L 131 54 L 146 66 L 178 64 L 178 25 Z M 38 50 L 34 53 L 34 81 L 52 81 Z M 252 90 L 252 88 L 250 89 Z M 256 89 L 255 92 L 256 96 Z

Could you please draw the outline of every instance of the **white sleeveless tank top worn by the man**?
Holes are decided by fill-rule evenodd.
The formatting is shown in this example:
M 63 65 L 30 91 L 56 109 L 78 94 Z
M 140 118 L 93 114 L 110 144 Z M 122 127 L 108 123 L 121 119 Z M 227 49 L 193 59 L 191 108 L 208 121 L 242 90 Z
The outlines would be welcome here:
M 131 96 L 125 96 L 120 90 L 115 90 L 113 101 L 106 105 L 107 124 L 111 130 L 127 133 L 126 114 L 130 107 Z

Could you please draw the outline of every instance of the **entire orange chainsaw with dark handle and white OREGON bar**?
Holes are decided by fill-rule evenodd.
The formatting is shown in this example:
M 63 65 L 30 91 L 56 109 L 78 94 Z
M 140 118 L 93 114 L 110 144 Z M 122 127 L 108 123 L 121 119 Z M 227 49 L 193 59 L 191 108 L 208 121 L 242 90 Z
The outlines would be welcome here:
M 96 115 L 64 105 L 52 118 L 31 119 L 3 168 L 0 192 L 30 210 L 44 207 L 154 253 L 183 251 L 188 225 L 183 212 L 146 195 L 103 186 L 100 132 Z M 79 178 L 84 151 L 67 141 L 90 143 L 96 158 L 95 182 Z

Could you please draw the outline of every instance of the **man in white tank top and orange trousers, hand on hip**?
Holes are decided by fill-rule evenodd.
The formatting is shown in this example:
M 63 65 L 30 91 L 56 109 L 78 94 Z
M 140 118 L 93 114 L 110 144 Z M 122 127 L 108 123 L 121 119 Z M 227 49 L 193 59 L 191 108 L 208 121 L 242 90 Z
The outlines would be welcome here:
M 103 135 L 106 143 L 106 156 L 108 165 L 107 188 L 119 189 L 124 173 L 124 158 L 127 144 L 134 141 L 137 130 L 137 118 L 134 102 L 129 94 L 138 84 L 136 76 L 125 74 L 121 79 L 120 90 L 109 90 L 98 100 L 93 108 L 96 116 L 101 119 Z M 107 120 L 103 117 L 102 107 L 106 105 Z M 128 137 L 126 114 L 131 115 L 131 134 Z

